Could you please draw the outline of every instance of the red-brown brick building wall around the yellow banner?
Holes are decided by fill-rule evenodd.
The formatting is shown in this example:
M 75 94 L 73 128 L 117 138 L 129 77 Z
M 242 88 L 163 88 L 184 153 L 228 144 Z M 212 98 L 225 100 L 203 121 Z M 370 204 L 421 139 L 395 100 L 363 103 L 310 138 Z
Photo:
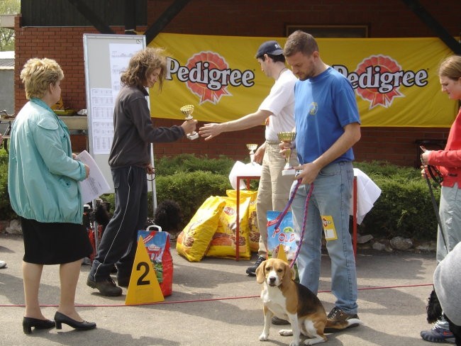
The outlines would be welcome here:
M 450 35 L 461 32 L 461 1 L 420 0 L 425 9 Z M 157 18 L 172 4 L 170 0 L 148 0 L 148 23 Z M 121 9 L 123 11 L 123 9 Z M 236 1 L 194 0 L 166 26 L 166 33 L 196 35 L 242 35 L 282 37 L 286 25 L 368 25 L 371 38 L 434 37 L 431 31 L 401 0 L 279 0 Z M 123 27 L 112 27 L 123 34 Z M 62 81 L 62 99 L 65 106 L 76 110 L 87 108 L 84 80 L 84 33 L 97 33 L 91 27 L 36 28 L 21 27 L 21 17 L 16 17 L 16 74 L 15 111 L 26 102 L 19 71 L 30 57 L 50 57 L 61 65 L 65 79 Z M 137 28 L 143 31 L 145 28 Z M 238 49 L 238 48 L 237 48 Z M 242 52 L 245 54 L 245 52 Z M 327 62 L 328 63 L 328 62 Z M 248 109 L 248 113 L 255 111 Z M 453 115 L 455 116 L 455 115 Z M 155 125 L 170 126 L 179 121 L 155 119 Z M 199 124 L 200 125 L 200 124 Z M 418 139 L 448 137 L 448 128 L 362 128 L 362 139 L 355 145 L 358 161 L 387 160 L 394 164 L 418 164 Z M 203 139 L 155 145 L 155 157 L 194 152 L 216 157 L 227 155 L 235 160 L 248 160 L 246 143 L 262 143 L 264 128 L 259 126 L 238 133 L 223 133 L 211 141 Z M 86 148 L 87 138 L 72 136 L 74 151 Z

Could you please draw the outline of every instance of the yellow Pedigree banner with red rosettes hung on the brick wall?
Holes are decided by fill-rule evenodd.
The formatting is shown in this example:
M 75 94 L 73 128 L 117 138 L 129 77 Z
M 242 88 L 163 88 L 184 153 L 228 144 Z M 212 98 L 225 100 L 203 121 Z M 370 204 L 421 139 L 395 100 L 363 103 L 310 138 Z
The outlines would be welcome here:
M 150 91 L 155 118 L 184 119 L 194 105 L 199 121 L 240 118 L 257 110 L 274 79 L 255 59 L 266 40 L 286 38 L 162 33 L 151 47 L 167 50 L 162 92 Z M 450 127 L 457 102 L 440 91 L 438 65 L 452 51 L 438 38 L 318 38 L 323 62 L 355 89 L 363 126 Z

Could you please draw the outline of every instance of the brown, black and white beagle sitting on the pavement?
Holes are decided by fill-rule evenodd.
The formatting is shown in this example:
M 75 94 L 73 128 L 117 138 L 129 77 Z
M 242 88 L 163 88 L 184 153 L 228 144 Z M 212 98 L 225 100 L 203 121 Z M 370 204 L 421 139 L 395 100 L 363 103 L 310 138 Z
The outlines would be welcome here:
M 256 269 L 256 282 L 262 284 L 261 300 L 264 312 L 264 330 L 260 341 L 269 337 L 272 316 L 289 320 L 290 329 L 279 330 L 280 335 L 293 335 L 290 346 L 299 346 L 300 333 L 309 337 L 304 345 L 325 342 L 323 330 L 328 328 L 344 329 L 349 325 L 362 323 L 359 319 L 346 320 L 344 323 L 330 324 L 321 301 L 312 291 L 294 281 L 294 270 L 282 259 L 270 258 Z

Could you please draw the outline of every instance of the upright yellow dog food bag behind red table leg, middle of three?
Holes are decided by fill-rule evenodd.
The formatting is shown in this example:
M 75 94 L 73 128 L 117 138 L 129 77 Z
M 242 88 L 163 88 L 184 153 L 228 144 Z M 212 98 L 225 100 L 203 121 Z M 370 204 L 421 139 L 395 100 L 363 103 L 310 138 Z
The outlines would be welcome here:
M 218 229 L 211 238 L 207 257 L 235 258 L 237 253 L 237 201 L 232 197 L 225 197 L 226 206 L 219 218 Z M 248 244 L 248 206 L 250 198 L 240 199 L 238 210 L 240 224 L 238 233 L 238 256 L 250 259 L 251 252 Z

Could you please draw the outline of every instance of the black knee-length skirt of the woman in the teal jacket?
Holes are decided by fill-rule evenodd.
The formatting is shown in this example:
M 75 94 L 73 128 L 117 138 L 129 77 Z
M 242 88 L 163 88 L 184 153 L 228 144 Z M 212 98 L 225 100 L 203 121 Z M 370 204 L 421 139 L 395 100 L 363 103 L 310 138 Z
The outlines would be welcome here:
M 41 223 L 21 218 L 23 261 L 33 264 L 64 264 L 93 252 L 87 229 L 77 223 Z

